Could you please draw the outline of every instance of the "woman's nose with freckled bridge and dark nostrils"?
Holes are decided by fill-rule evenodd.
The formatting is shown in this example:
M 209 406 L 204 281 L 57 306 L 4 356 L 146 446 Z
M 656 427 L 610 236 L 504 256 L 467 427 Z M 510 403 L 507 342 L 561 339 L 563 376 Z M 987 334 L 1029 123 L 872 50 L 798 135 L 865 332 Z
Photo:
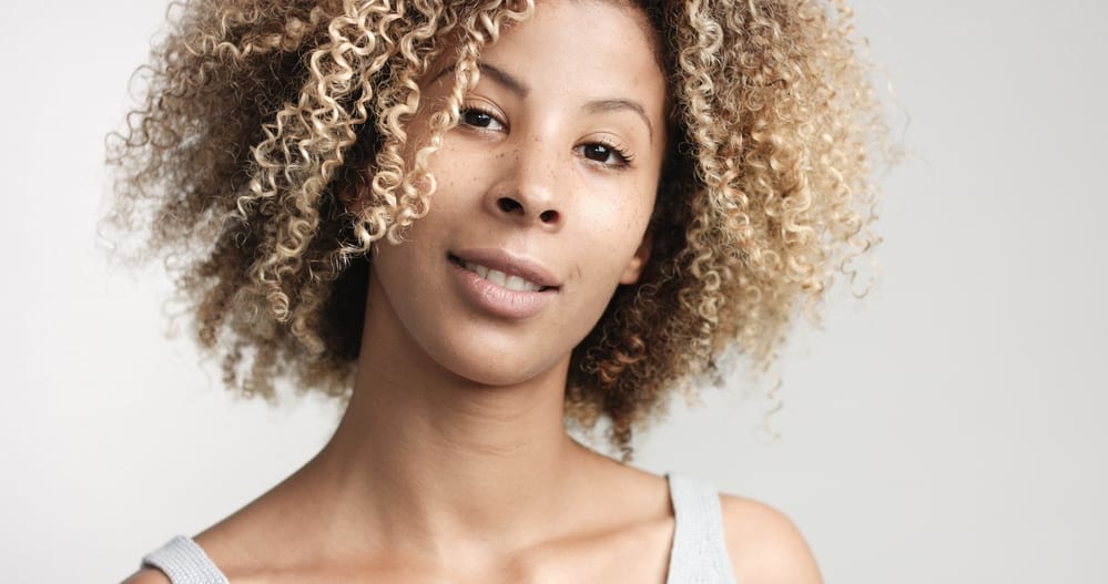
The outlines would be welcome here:
M 540 147 L 520 146 L 500 160 L 499 180 L 489 189 L 489 212 L 520 225 L 555 232 L 565 222 L 566 185 L 559 181 L 557 155 Z

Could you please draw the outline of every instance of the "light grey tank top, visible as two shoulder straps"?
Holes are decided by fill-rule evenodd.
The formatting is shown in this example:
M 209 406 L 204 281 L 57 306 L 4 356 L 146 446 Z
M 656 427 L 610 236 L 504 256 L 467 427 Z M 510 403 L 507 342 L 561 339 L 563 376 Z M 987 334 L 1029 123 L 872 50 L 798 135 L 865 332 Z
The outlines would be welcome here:
M 723 542 L 720 495 L 704 482 L 668 475 L 675 529 L 667 584 L 735 584 Z M 173 584 L 228 584 L 196 542 L 177 535 L 142 559 Z

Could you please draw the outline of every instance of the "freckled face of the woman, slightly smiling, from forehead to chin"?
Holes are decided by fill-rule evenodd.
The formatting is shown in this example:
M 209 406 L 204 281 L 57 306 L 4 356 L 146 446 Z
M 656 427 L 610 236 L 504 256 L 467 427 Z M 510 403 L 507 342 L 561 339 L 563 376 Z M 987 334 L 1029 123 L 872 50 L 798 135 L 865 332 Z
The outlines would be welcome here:
M 649 259 L 667 136 L 648 30 L 620 3 L 543 1 L 482 51 L 431 211 L 376 249 L 367 344 L 482 385 L 565 375 Z M 414 136 L 453 85 L 451 63 L 431 71 Z

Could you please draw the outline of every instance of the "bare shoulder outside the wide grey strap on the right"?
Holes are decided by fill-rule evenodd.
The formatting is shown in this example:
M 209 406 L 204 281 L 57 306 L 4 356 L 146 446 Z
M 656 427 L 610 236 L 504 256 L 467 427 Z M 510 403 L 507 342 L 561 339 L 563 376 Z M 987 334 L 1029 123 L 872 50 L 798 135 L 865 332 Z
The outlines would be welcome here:
M 820 584 L 820 570 L 796 525 L 780 511 L 722 495 L 724 539 L 743 584 Z

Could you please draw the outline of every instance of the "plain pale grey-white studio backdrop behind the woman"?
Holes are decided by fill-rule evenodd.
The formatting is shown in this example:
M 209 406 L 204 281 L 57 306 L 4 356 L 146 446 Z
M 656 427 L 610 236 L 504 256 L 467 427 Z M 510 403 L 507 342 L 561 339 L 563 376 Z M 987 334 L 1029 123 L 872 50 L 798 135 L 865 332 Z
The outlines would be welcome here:
M 1108 4 L 855 7 L 908 154 L 883 178 L 880 285 L 793 336 L 780 412 L 735 376 L 638 463 L 782 509 L 829 583 L 1108 582 Z M 335 422 L 234 399 L 165 338 L 164 277 L 98 247 L 103 136 L 163 11 L 4 9 L 4 582 L 119 581 Z

